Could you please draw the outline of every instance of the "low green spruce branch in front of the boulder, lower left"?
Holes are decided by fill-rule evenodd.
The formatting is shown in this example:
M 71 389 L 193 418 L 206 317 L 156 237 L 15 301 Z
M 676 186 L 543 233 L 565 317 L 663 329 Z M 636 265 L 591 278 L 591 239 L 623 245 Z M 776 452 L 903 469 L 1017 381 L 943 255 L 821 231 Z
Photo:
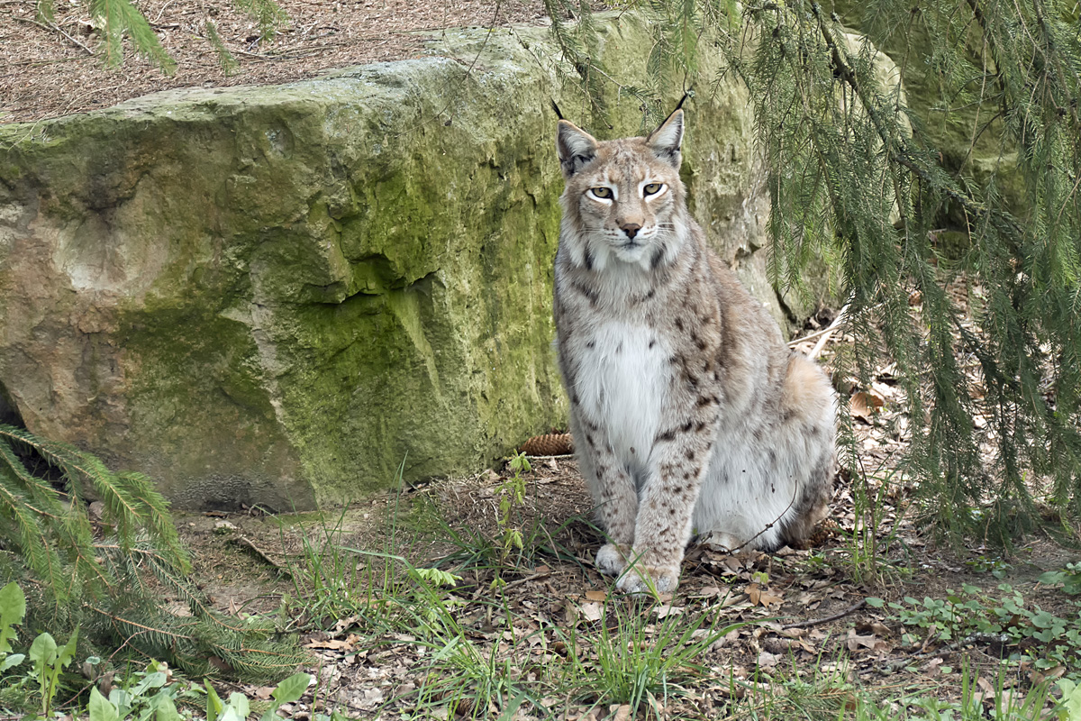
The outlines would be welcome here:
M 102 505 L 93 523 L 88 496 Z M 30 623 L 79 626 L 101 653 L 125 649 L 193 676 L 278 679 L 305 660 L 295 641 L 277 638 L 272 620 L 212 609 L 190 571 L 149 479 L 0 425 L 0 575 L 23 576 Z M 166 607 L 163 591 L 186 613 Z

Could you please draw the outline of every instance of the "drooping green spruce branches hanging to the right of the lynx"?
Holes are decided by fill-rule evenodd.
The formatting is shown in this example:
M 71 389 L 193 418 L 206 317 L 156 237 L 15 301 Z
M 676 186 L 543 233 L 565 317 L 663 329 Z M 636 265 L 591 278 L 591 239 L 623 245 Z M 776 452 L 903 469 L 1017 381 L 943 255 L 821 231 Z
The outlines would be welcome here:
M 651 17 L 678 21 L 655 24 L 653 82 L 710 88 L 717 78 L 695 76 L 708 43 L 748 89 L 770 173 L 770 270 L 799 289 L 810 258 L 839 261 L 858 338 L 839 362 L 865 380 L 884 360 L 897 363 L 906 469 L 927 511 L 945 530 L 1001 539 L 1032 528 L 1037 496 L 1077 520 L 1076 3 L 853 6 L 848 16 L 920 86 L 918 107 L 828 6 L 751 1 L 734 16 L 720 5 L 649 3 Z M 564 29 L 553 26 L 557 37 Z M 563 42 L 573 51 L 573 37 Z M 950 133 L 967 146 L 944 145 Z M 946 238 L 961 241 L 947 248 Z M 917 291 L 918 310 L 908 304 Z

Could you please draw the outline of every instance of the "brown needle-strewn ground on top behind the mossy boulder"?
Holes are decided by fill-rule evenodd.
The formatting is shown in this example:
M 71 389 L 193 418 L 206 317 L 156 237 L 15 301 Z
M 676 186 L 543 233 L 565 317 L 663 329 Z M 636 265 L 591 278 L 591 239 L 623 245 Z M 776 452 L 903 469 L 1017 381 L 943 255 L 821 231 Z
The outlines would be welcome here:
M 545 18 L 539 0 L 278 0 L 288 19 L 264 37 L 241 2 L 136 0 L 176 62 L 166 75 L 130 45 L 120 67 L 106 67 L 90 0 L 54 4 L 48 21 L 38 14 L 38 0 L 0 0 L 0 122 L 83 112 L 172 88 L 288 82 L 418 56 L 424 37 L 441 28 Z M 211 27 L 236 61 L 231 70 L 222 67 Z

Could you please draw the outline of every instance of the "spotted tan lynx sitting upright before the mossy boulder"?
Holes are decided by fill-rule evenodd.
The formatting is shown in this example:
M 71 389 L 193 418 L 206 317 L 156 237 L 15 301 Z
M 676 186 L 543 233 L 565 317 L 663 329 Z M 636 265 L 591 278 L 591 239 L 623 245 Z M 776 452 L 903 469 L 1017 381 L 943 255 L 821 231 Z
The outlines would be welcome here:
M 803 539 L 836 465 L 833 392 L 707 246 L 680 182 L 683 110 L 646 137 L 559 121 L 553 313 L 578 464 L 617 587 L 671 591 L 693 534 Z

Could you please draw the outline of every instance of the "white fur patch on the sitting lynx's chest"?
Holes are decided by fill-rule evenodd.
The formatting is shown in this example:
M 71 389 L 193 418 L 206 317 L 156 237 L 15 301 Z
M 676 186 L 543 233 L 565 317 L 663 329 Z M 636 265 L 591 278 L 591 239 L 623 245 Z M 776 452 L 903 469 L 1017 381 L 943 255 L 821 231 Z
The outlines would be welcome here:
M 669 388 L 668 344 L 627 321 L 599 323 L 576 341 L 582 412 L 601 422 L 616 457 L 641 478 Z

